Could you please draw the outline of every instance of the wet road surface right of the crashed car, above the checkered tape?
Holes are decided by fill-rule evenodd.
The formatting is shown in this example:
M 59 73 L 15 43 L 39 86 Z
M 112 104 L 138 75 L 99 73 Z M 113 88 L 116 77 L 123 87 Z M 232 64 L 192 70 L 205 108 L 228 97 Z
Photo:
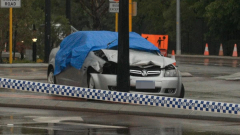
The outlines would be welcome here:
M 177 58 L 178 69 L 189 72 L 183 77 L 185 98 L 240 104 L 239 81 L 219 80 L 215 77 L 240 72 L 240 60 Z

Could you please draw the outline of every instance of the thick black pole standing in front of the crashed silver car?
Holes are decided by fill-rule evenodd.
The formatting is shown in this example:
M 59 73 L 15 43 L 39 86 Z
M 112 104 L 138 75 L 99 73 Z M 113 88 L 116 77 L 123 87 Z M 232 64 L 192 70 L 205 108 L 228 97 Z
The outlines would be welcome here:
M 129 0 L 119 1 L 117 90 L 129 92 Z

